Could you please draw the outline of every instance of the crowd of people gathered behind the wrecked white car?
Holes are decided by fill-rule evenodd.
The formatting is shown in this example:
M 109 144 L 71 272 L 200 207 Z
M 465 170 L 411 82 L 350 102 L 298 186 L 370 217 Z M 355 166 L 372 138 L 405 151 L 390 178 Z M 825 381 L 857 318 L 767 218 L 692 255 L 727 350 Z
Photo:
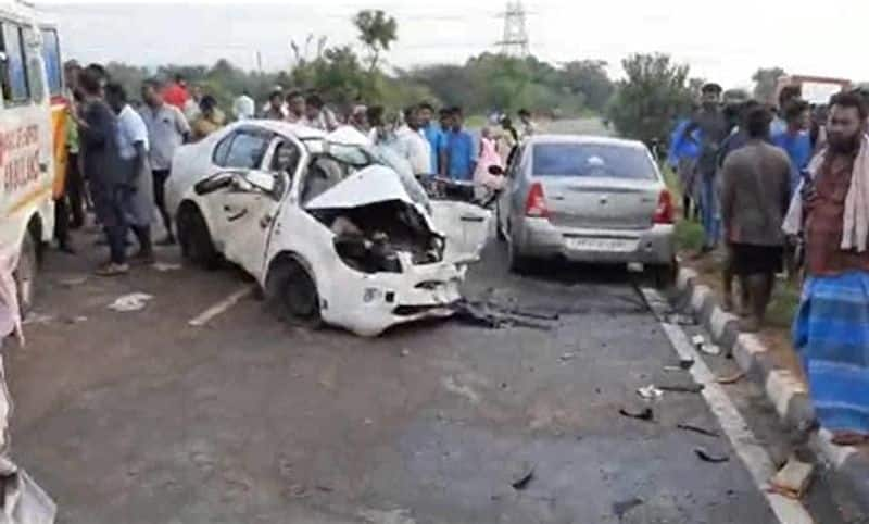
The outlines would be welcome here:
M 404 159 L 417 176 L 444 177 L 476 187 L 496 189 L 515 146 L 533 134 L 531 113 L 521 110 L 517 130 L 507 115 L 490 120 L 477 136 L 464 127 L 461 108 L 440 111 L 428 102 L 389 113 L 381 105 L 356 104 L 341 113 L 314 91 L 275 88 L 265 103 L 244 91 L 232 102 L 229 115 L 201 86 L 188 86 L 180 75 L 171 82 L 147 79 L 140 99 L 133 100 L 99 64 L 64 66 L 70 108 L 68 165 L 64 191 L 55 200 L 55 237 L 61 250 L 75 252 L 70 230 L 85 226 L 85 210 L 92 209 L 96 230 L 104 234 L 110 258 L 97 274 L 125 274 L 130 264 L 154 262 L 153 244 L 176 242 L 165 186 L 178 147 L 201 140 L 230 120 L 264 118 L 332 132 L 351 126 L 373 146 L 388 148 Z M 438 120 L 434 120 L 436 114 Z M 166 236 L 152 242 L 152 224 L 159 216 Z M 129 234 L 138 250 L 127 257 Z

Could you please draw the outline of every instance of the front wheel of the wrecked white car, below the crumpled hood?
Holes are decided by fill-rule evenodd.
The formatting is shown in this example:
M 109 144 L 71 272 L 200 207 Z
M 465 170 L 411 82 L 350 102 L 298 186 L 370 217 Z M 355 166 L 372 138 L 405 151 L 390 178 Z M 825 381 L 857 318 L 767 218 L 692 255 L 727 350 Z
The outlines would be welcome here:
M 266 300 L 281 320 L 311 328 L 322 326 L 319 292 L 304 265 L 287 258 L 277 263 L 267 278 Z

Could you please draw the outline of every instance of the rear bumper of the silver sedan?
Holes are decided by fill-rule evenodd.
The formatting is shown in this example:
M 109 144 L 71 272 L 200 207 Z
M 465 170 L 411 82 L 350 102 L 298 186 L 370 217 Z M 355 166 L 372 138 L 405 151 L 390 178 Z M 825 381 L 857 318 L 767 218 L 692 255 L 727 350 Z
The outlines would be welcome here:
M 676 257 L 672 224 L 646 229 L 582 229 L 557 227 L 545 219 L 525 219 L 513 241 L 522 257 L 575 262 L 670 264 Z

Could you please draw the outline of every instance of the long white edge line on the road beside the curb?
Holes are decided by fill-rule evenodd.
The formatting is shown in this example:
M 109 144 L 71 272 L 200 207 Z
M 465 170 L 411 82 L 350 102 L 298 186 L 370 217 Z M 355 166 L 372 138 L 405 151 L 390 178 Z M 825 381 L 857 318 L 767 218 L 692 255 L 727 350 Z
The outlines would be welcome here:
M 659 321 L 664 319 L 669 309 L 669 304 L 664 297 L 658 291 L 650 288 L 640 288 L 640 292 L 642 292 L 655 316 Z M 718 419 L 721 429 L 730 439 L 730 444 L 736 450 L 736 454 L 754 478 L 755 486 L 764 494 L 767 503 L 769 503 L 779 522 L 783 524 L 811 524 L 814 522 L 811 515 L 798 500 L 792 500 L 767 491 L 769 479 L 776 474 L 776 466 L 769 458 L 769 453 L 758 444 L 745 420 L 730 401 L 725 389 L 716 382 L 715 375 L 700 353 L 691 347 L 684 330 L 678 325 L 664 322 L 660 322 L 660 326 L 679 357 L 694 361 L 694 365 L 689 370 L 691 376 L 694 377 L 697 384 L 704 386 L 701 392 L 704 400 L 706 400 L 709 409 Z

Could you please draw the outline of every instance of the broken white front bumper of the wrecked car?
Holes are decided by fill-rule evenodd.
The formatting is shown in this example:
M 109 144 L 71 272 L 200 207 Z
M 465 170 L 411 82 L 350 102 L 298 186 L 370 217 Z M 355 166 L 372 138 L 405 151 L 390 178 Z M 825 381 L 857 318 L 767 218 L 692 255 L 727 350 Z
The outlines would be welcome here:
M 322 297 L 323 320 L 376 337 L 398 324 L 452 315 L 467 267 L 451 262 L 413 265 L 407 253 L 399 257 L 402 273 L 339 270 L 340 275 L 332 275 L 330 297 Z

